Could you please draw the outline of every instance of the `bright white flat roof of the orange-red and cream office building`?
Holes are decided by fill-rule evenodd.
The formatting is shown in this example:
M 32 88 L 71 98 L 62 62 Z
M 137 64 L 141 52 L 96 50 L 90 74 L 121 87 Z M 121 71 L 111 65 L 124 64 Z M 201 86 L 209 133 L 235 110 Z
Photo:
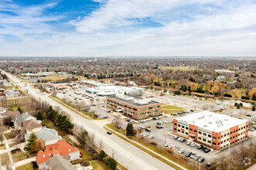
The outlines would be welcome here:
M 178 117 L 176 120 L 215 132 L 226 131 L 238 124 L 247 122 L 247 120 L 237 119 L 224 114 L 216 114 L 207 110 L 195 114 L 189 114 L 184 117 Z

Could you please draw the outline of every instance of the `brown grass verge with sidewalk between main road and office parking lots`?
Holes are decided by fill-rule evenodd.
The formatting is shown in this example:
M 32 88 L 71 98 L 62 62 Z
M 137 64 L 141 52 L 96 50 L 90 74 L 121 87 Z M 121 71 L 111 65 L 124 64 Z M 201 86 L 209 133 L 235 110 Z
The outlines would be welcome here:
M 164 162 L 165 164 L 170 165 L 172 168 L 181 169 L 180 167 L 171 163 L 171 162 L 175 162 L 178 165 L 181 165 L 183 168 L 196 169 L 196 167 L 193 167 L 192 165 L 189 165 L 187 163 L 187 160 L 186 160 L 185 156 L 184 156 L 184 159 L 182 159 L 183 157 L 182 158 L 177 158 L 177 157 L 175 157 L 175 155 L 172 155 L 168 151 L 157 148 L 156 145 L 152 145 L 152 144 L 150 144 L 150 142 L 147 143 L 146 141 L 143 141 L 140 138 L 138 140 L 140 145 L 138 145 L 137 144 L 137 137 L 135 137 L 135 136 L 132 136 L 130 138 L 123 137 L 121 134 L 123 134 L 125 136 L 126 135 L 126 130 L 125 129 L 117 129 L 117 128 L 114 127 L 114 125 L 112 123 L 106 124 L 104 128 L 106 128 L 106 130 L 108 130 L 108 131 L 109 131 L 109 129 L 111 129 L 112 133 L 116 134 L 116 136 L 118 136 L 119 138 L 122 138 L 124 141 L 129 142 L 131 145 L 134 145 L 137 148 L 140 148 L 142 151 L 145 151 L 145 152 L 147 152 L 147 154 L 154 156 L 154 158 L 157 158 L 161 162 Z M 130 141 L 129 139 L 132 140 L 132 141 Z M 142 147 L 141 145 L 143 145 L 146 148 Z M 161 158 L 161 156 L 156 155 L 153 151 L 156 152 L 157 154 L 163 156 L 164 158 L 168 158 L 171 162 L 168 162 L 164 158 Z

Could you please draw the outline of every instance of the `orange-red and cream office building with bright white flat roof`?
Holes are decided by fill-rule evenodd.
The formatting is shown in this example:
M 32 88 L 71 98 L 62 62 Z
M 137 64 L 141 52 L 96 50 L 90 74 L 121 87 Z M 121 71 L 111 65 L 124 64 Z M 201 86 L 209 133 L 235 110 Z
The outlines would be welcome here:
M 185 138 L 212 148 L 222 149 L 247 138 L 247 120 L 237 119 L 224 114 L 202 111 L 174 119 L 173 131 Z

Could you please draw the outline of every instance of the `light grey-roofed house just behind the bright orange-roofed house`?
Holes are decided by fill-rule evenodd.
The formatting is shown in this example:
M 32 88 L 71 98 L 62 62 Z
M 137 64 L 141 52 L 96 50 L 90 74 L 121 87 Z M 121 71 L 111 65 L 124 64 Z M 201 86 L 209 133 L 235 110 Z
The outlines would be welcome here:
M 40 131 L 36 131 L 37 138 L 43 139 L 45 145 L 53 145 L 57 141 L 61 140 L 61 136 L 57 134 L 57 131 L 50 128 L 42 128 Z M 29 140 L 30 134 L 25 134 L 25 140 Z

